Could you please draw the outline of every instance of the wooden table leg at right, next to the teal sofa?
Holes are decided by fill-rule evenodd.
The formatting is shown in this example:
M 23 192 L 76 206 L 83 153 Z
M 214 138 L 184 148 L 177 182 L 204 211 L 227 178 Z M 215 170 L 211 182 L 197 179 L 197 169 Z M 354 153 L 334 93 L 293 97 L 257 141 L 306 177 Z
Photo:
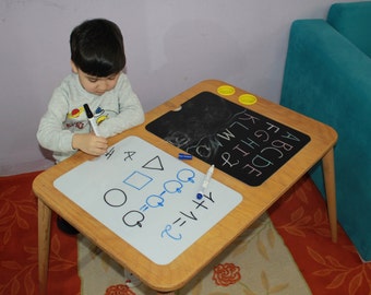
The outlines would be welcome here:
M 336 216 L 336 189 L 335 189 L 335 167 L 334 149 L 331 149 L 322 158 L 323 176 L 327 199 L 327 211 L 331 228 L 331 238 L 337 241 L 337 216 Z

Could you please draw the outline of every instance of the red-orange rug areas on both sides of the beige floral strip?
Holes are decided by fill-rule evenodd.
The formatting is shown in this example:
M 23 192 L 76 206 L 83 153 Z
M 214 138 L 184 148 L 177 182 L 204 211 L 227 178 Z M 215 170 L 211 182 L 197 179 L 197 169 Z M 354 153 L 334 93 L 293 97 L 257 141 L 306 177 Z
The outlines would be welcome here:
M 0 295 L 38 294 L 37 235 L 25 232 L 37 233 L 37 198 L 32 182 L 39 173 L 0 177 Z M 29 199 L 22 203 L 17 194 Z M 362 263 L 339 225 L 337 244 L 331 241 L 325 201 L 308 175 L 268 213 L 313 294 L 371 295 L 371 263 Z M 12 219 L 7 214 L 15 221 L 10 228 L 7 224 Z M 50 236 L 48 294 L 80 295 L 76 237 L 57 228 L 55 213 Z M 17 260 L 20 252 L 23 255 Z

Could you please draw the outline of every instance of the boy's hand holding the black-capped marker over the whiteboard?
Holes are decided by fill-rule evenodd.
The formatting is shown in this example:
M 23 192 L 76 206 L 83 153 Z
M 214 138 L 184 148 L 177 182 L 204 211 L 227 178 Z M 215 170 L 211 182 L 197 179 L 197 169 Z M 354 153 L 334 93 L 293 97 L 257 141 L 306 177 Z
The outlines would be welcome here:
M 107 152 L 108 142 L 107 139 L 96 137 L 94 133 L 76 133 L 72 138 L 72 148 L 89 155 L 103 155 Z

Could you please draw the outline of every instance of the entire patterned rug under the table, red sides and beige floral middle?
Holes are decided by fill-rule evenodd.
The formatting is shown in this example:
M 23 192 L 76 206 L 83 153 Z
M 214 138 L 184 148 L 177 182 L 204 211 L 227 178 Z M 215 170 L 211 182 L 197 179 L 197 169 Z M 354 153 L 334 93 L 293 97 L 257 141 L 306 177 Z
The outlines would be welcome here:
M 0 295 L 36 295 L 38 173 L 0 177 Z M 303 177 L 178 294 L 371 295 L 362 263 L 338 226 L 330 238 L 325 202 Z M 70 237 L 52 215 L 48 294 L 153 294 L 84 237 Z M 79 261 L 79 262 L 77 262 Z

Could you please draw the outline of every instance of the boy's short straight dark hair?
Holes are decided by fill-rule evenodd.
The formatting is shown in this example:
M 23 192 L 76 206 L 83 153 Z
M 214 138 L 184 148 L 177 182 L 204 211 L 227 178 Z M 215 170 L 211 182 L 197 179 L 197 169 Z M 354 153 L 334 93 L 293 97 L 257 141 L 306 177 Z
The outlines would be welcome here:
M 74 64 L 94 76 L 116 74 L 127 63 L 121 31 L 108 20 L 88 20 L 76 26 L 70 47 Z

